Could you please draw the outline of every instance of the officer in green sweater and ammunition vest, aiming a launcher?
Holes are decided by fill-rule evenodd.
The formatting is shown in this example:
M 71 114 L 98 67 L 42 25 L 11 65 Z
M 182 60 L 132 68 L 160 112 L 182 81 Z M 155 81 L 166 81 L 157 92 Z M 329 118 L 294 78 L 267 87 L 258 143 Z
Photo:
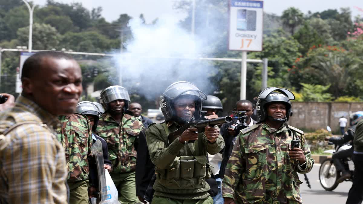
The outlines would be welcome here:
M 179 137 L 168 138 L 169 132 L 200 118 L 202 98 L 207 96 L 185 81 L 173 83 L 163 93 L 160 107 L 165 122 L 152 123 L 146 131 L 150 159 L 156 166 L 152 204 L 213 203 L 205 182 L 211 177 L 207 153 L 216 154 L 224 147 L 219 128 L 207 126 L 204 133 L 188 128 Z

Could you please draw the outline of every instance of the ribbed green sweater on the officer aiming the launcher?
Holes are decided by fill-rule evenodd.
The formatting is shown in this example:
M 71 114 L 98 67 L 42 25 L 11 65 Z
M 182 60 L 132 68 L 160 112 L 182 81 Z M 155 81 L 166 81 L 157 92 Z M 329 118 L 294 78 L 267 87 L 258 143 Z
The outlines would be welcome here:
M 172 123 L 168 127 L 170 132 L 179 128 L 176 123 Z M 204 148 L 200 150 L 201 155 L 217 154 L 224 147 L 223 137 L 220 135 L 215 143 L 210 143 L 204 133 L 200 133 L 199 138 L 202 138 Z M 160 169 L 168 169 L 176 156 L 199 156 L 195 155 L 194 143 L 182 144 L 178 139 L 168 145 L 166 132 L 161 124 L 151 124 L 146 131 L 146 141 L 150 152 L 150 159 L 156 167 Z M 168 197 L 171 199 L 180 200 L 198 200 L 205 199 L 209 196 L 207 192 L 210 187 L 207 183 L 203 188 L 194 189 L 169 189 L 164 187 L 156 179 L 154 186 L 154 196 Z

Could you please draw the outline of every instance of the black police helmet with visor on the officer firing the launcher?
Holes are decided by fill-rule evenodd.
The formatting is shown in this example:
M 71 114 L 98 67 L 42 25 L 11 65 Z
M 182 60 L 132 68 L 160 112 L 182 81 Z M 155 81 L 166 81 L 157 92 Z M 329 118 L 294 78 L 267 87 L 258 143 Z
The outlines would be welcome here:
M 192 96 L 195 98 L 195 113 L 192 119 L 199 119 L 201 113 L 202 99 L 207 100 L 207 95 L 199 90 L 194 84 L 187 81 L 178 81 L 168 86 L 160 100 L 160 108 L 165 117 L 165 121 L 170 121 L 176 118 L 174 102 L 181 96 Z

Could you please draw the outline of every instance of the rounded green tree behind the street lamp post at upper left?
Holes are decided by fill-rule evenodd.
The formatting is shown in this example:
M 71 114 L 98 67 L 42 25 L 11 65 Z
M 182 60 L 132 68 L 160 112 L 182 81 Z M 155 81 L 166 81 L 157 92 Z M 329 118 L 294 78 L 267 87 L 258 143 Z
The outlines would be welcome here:
M 21 45 L 27 45 L 29 40 L 29 26 L 19 28 L 17 31 Z M 60 34 L 56 28 L 48 24 L 33 24 L 33 49 L 50 50 L 57 48 L 60 41 Z

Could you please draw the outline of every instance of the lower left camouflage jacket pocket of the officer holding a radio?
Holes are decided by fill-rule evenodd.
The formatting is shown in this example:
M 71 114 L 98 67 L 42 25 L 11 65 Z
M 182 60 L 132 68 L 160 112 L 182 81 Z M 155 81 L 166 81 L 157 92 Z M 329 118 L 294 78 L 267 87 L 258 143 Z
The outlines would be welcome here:
M 265 182 L 263 176 L 258 176 L 252 179 L 244 179 L 244 194 L 248 203 L 260 203 L 265 198 Z

